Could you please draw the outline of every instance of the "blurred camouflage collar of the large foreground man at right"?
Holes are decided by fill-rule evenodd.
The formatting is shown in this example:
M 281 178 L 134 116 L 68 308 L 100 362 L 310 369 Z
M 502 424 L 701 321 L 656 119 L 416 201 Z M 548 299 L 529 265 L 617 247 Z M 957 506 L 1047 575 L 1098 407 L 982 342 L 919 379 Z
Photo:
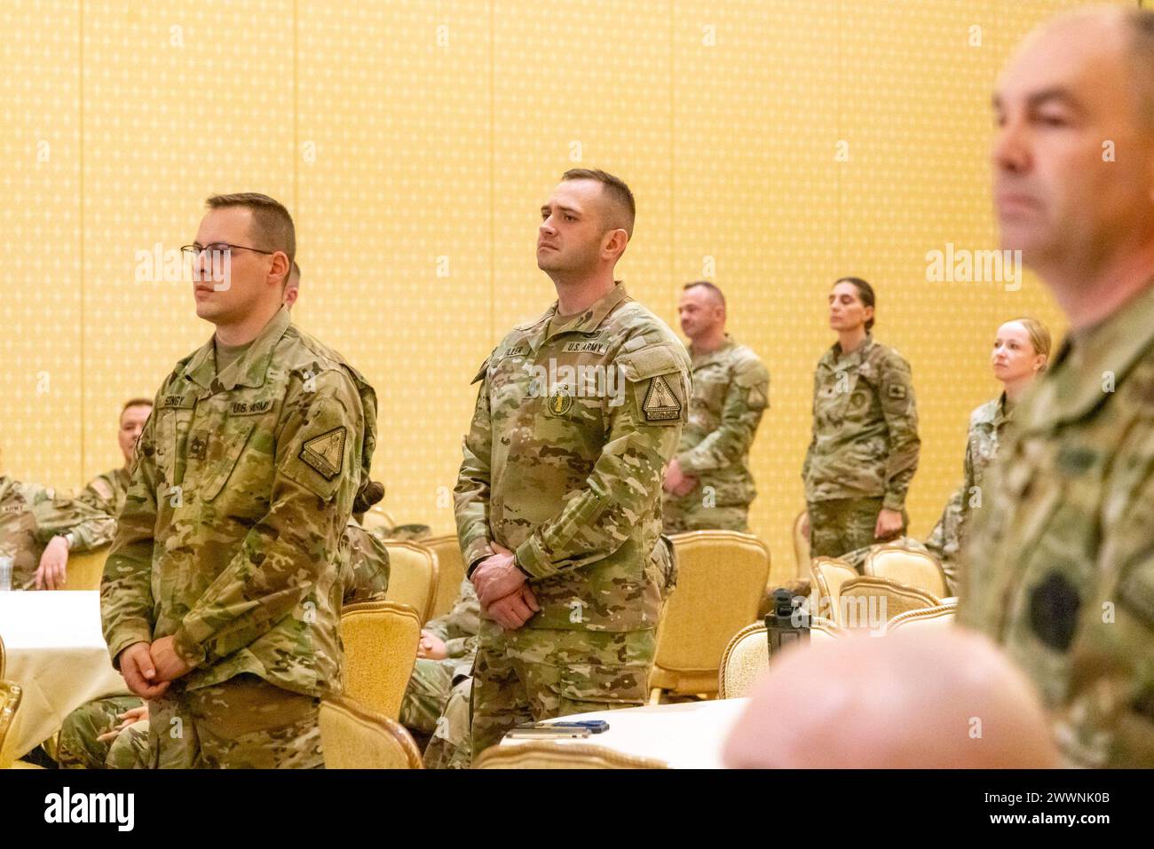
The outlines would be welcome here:
M 1109 396 L 1102 390 L 1106 373 L 1121 384 L 1138 359 L 1154 344 L 1154 285 L 1130 299 L 1092 328 L 1071 333 L 1062 343 L 1054 367 L 1037 382 L 1022 433 L 1047 430 L 1082 418 Z

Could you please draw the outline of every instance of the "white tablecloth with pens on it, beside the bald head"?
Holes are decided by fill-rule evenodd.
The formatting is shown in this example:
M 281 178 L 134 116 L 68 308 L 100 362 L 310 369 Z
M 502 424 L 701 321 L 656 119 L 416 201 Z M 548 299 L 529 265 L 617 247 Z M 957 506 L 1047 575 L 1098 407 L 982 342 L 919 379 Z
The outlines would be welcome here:
M 583 743 L 605 746 L 624 754 L 664 760 L 680 769 L 720 769 L 721 747 L 729 729 L 748 704 L 749 699 L 720 699 L 562 716 L 557 722 L 605 720 L 609 723 L 609 730 L 584 738 L 560 738 L 555 742 L 562 745 Z M 507 737 L 501 745 L 519 745 L 530 739 Z

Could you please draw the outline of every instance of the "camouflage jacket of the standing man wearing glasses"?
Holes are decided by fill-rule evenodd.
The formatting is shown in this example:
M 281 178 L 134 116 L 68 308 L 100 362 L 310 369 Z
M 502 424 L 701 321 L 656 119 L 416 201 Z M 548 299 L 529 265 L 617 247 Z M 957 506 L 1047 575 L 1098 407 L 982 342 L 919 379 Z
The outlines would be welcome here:
M 339 547 L 375 396 L 286 309 L 220 374 L 213 352 L 177 363 L 141 434 L 100 587 L 108 651 L 173 634 L 187 689 L 339 690 Z

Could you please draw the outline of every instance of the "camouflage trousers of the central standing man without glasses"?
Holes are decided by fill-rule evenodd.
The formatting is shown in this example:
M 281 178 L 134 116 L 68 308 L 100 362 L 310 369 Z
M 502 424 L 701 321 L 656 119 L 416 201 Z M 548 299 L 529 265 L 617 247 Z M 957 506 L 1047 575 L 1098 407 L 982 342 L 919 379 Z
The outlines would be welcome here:
M 655 630 L 519 628 L 481 621 L 473 663 L 473 762 L 514 726 L 645 704 Z

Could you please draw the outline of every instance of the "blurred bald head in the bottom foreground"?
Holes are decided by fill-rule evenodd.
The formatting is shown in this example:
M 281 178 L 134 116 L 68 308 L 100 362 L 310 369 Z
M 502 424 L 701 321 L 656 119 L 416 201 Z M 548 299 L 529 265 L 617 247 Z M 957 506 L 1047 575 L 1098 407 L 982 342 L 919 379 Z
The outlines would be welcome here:
M 1049 722 L 1024 675 L 952 626 L 784 652 L 725 747 L 736 768 L 1047 768 Z

